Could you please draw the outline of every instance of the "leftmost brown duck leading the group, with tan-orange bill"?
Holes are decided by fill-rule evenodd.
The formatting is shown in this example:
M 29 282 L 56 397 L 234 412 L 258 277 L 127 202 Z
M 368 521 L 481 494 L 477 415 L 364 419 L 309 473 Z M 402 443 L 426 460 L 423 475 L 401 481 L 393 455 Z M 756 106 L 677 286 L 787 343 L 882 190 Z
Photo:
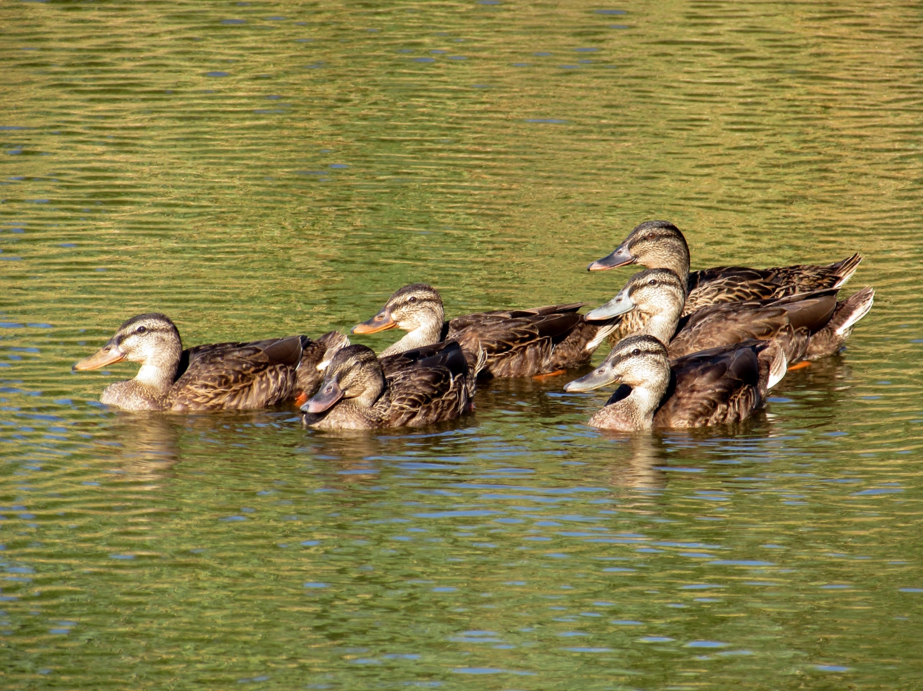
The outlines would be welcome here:
M 183 349 L 179 330 L 160 312 L 125 321 L 73 370 L 99 370 L 128 360 L 138 375 L 114 382 L 100 401 L 126 410 L 241 410 L 275 406 L 299 394 L 314 394 L 323 379 L 318 366 L 349 345 L 340 332 L 312 340 L 304 335 Z M 309 395 L 308 394 L 308 395 Z

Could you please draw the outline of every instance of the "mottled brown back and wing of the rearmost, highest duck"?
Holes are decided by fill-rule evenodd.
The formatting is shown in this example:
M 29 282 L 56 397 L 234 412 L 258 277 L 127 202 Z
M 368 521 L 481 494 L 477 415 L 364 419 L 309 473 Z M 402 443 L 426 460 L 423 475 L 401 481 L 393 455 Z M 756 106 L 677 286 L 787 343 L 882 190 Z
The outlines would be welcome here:
M 836 288 L 856 271 L 862 257 L 854 254 L 833 264 L 797 264 L 772 269 L 716 266 L 690 272 L 683 314 L 722 302 L 785 297 L 823 288 Z

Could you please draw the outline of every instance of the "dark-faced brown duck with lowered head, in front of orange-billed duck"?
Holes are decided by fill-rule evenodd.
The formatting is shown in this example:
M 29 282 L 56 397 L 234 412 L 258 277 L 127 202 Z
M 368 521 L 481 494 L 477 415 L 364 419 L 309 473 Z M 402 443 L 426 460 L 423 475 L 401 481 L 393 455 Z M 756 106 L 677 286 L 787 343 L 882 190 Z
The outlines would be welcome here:
M 305 423 L 321 429 L 423 427 L 472 410 L 476 378 L 455 341 L 380 359 L 369 347 L 347 346 L 301 409 Z

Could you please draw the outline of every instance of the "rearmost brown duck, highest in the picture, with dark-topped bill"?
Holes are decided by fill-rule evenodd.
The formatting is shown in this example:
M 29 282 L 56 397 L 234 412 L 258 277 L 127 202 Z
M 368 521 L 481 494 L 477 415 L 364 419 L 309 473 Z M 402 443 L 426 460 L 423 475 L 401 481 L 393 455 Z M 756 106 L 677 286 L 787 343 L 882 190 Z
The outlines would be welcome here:
M 860 261 L 862 257 L 854 254 L 826 266 L 798 264 L 773 269 L 717 266 L 689 273 L 689 246 L 677 226 L 669 221 L 646 221 L 632 230 L 612 254 L 593 261 L 587 271 L 605 271 L 634 263 L 650 269 L 670 269 L 686 282 L 685 315 L 720 302 L 839 288 L 849 280 Z

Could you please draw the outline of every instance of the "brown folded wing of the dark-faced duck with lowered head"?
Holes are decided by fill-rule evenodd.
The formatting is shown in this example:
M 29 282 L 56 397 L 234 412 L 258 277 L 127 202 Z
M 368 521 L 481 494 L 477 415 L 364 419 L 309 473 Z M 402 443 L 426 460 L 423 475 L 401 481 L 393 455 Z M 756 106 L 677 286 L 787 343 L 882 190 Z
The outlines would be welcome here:
M 455 341 L 381 358 L 388 382 L 373 412 L 382 427 L 422 427 L 472 408 L 468 361 Z

